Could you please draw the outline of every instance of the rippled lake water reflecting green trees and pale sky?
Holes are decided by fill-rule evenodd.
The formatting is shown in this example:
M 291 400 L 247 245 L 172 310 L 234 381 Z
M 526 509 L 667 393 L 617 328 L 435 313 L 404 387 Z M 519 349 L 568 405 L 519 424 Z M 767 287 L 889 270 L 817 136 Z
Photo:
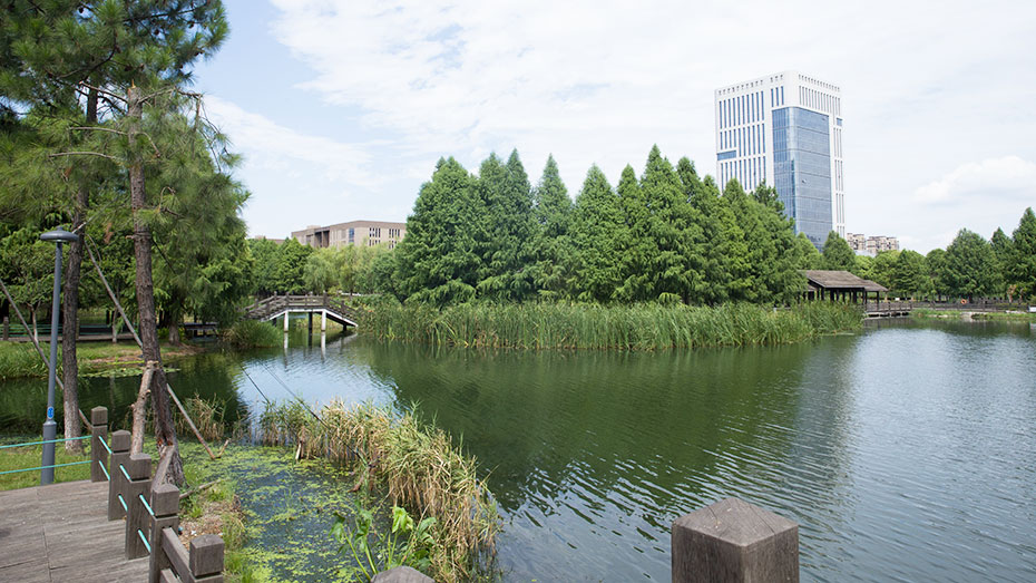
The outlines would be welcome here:
M 672 522 L 727 496 L 799 523 L 807 581 L 1036 580 L 1030 324 L 656 353 L 295 336 L 179 367 L 182 397 L 232 408 L 419 404 L 488 473 L 508 581 L 668 581 Z M 124 408 L 138 382 L 89 379 L 84 410 Z M 0 422 L 35 427 L 45 401 L 46 380 L 0 385 Z

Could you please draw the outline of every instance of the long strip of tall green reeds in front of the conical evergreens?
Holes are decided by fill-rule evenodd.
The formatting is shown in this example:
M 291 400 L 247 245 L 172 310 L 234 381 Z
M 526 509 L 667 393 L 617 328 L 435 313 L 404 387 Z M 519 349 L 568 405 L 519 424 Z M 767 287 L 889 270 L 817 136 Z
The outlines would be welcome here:
M 750 304 L 375 305 L 364 329 L 383 340 L 519 349 L 664 350 L 784 344 L 857 330 L 860 311 L 832 303 L 772 310 Z

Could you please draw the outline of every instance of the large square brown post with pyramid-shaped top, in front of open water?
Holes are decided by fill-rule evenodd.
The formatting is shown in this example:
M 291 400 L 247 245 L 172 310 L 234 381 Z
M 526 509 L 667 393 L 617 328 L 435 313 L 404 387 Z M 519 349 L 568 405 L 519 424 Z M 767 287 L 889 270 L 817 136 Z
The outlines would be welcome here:
M 737 498 L 673 523 L 673 583 L 798 582 L 799 525 Z

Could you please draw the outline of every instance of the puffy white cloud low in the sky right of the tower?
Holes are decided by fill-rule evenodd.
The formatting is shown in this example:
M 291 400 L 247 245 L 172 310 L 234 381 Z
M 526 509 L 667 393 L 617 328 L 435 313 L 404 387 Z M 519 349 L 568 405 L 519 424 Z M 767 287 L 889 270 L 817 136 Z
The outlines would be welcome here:
M 915 191 L 929 204 L 973 204 L 976 201 L 1036 200 L 1036 164 L 1005 156 L 958 166 L 942 178 Z

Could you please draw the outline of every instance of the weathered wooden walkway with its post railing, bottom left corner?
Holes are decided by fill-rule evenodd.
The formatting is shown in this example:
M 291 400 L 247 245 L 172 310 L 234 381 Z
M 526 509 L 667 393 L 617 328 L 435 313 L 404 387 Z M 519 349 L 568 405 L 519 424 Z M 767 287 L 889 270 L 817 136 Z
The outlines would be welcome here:
M 90 480 L 0 492 L 0 581 L 223 583 L 223 540 L 177 537 L 179 489 L 165 484 L 172 449 L 152 457 L 111 434 L 108 410 L 90 422 Z

